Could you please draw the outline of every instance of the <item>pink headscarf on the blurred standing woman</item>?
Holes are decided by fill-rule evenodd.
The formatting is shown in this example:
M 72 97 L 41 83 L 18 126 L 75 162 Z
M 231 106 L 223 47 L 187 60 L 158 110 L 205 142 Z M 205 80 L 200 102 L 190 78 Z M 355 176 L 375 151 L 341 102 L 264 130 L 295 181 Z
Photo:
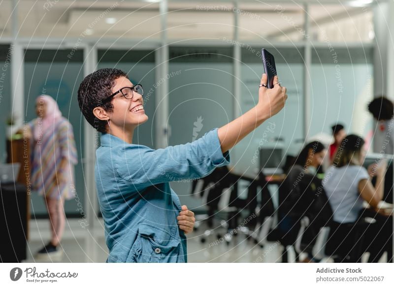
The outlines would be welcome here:
M 56 123 L 62 118 L 62 112 L 59 110 L 56 100 L 48 95 L 40 95 L 35 102 L 40 103 L 43 100 L 46 104 L 46 114 L 43 119 L 37 118 L 36 127 L 34 128 L 34 139 L 42 140 L 42 134 L 45 130 L 55 127 Z

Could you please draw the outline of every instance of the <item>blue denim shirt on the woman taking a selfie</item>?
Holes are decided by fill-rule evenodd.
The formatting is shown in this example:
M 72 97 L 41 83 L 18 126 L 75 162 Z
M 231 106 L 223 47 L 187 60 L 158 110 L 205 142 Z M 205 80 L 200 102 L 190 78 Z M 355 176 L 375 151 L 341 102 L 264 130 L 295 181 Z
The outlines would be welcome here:
M 158 150 L 103 133 L 96 156 L 107 262 L 187 262 L 186 237 L 176 220 L 181 203 L 169 182 L 204 177 L 230 163 L 218 129 Z

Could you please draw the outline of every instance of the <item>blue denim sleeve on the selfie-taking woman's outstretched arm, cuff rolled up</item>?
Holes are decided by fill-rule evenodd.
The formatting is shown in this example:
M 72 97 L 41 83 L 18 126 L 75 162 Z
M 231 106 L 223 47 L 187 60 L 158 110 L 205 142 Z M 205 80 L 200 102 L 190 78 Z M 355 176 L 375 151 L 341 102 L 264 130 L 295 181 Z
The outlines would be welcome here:
M 201 178 L 230 163 L 229 152 L 222 153 L 218 128 L 191 143 L 158 150 L 131 145 L 125 146 L 122 153 L 125 161 L 118 162 L 118 174 L 146 186 Z

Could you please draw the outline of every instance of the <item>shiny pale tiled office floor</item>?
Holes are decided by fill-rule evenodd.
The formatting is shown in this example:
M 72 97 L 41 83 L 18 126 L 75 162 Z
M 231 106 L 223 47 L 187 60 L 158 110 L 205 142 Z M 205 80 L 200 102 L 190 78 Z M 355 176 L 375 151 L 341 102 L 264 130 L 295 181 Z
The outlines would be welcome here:
M 102 220 L 95 223 L 94 230 L 82 228 L 78 220 L 69 219 L 61 242 L 64 250 L 60 262 L 105 262 L 108 249 L 105 245 Z M 275 262 L 280 260 L 280 246 L 270 242 L 264 248 L 255 246 L 246 240 L 244 234 L 232 238 L 229 245 L 216 234 L 206 237 L 201 243 L 203 226 L 188 236 L 189 262 Z M 25 262 L 37 262 L 33 255 L 45 245 L 50 238 L 48 220 L 32 220 L 30 222 L 30 238 L 28 242 L 28 258 Z M 217 244 L 214 244 L 217 243 Z M 42 261 L 41 261 L 42 262 Z

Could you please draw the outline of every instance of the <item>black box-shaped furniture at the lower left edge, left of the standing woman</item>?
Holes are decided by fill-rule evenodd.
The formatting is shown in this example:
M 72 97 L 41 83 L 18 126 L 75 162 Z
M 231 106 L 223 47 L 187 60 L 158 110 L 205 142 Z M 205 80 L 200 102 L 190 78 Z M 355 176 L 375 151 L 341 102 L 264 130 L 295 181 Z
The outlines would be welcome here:
M 26 259 L 27 197 L 22 184 L 0 185 L 0 262 Z

